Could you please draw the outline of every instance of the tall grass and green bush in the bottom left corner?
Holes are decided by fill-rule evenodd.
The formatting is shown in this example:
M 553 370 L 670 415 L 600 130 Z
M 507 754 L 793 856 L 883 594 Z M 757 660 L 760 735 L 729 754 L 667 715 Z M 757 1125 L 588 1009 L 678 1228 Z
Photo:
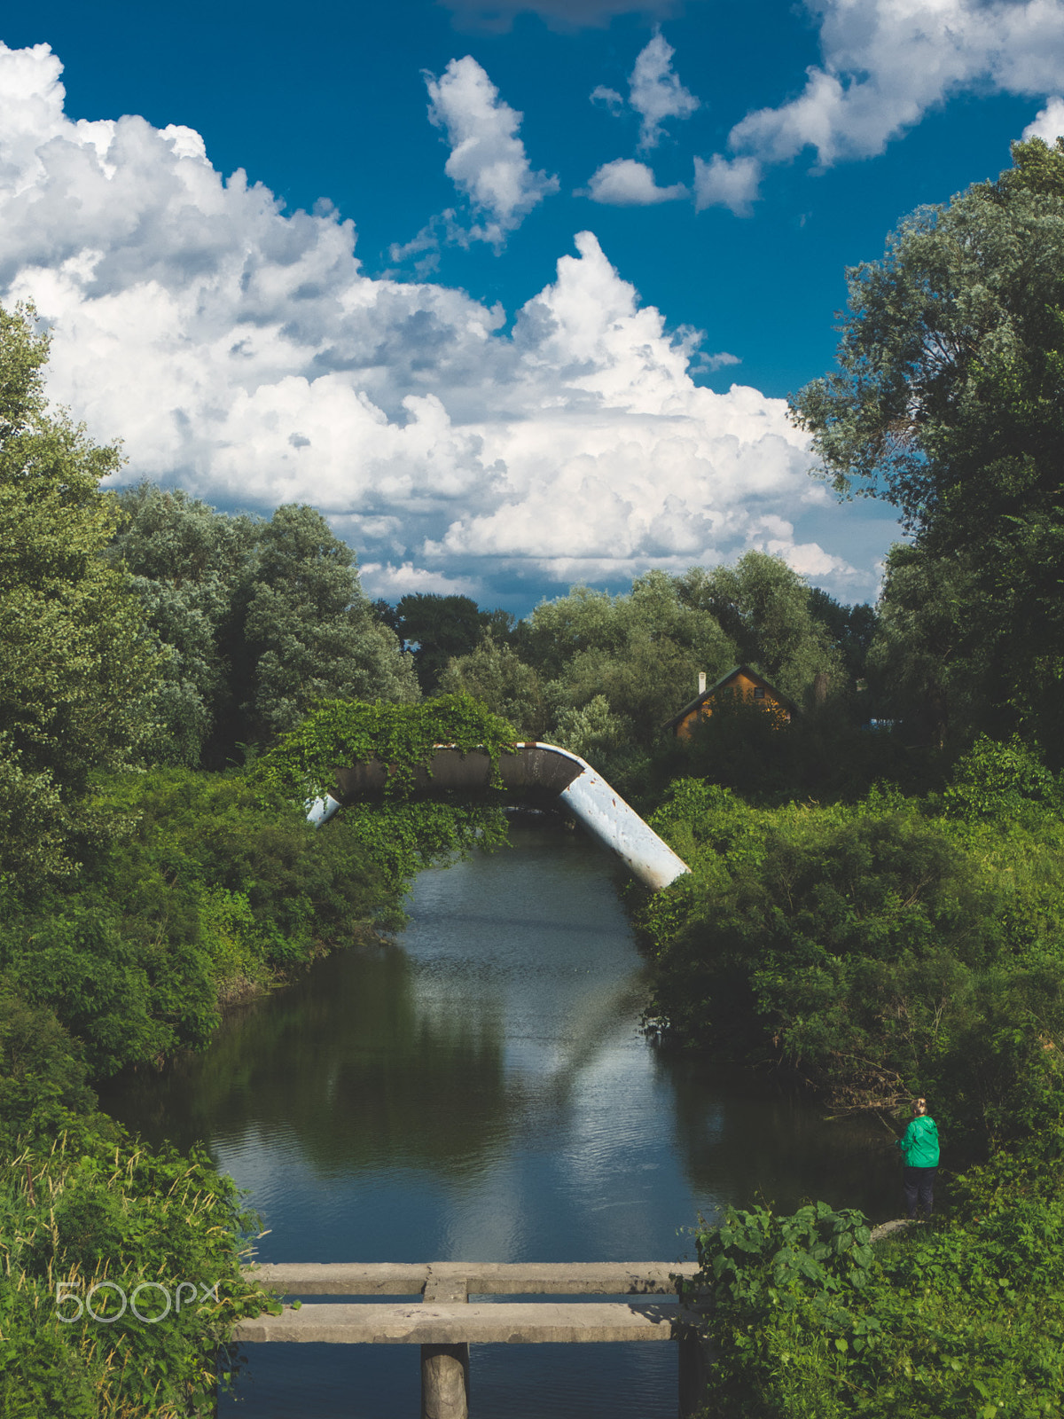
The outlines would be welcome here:
M 214 1412 L 218 1347 L 275 1303 L 240 1273 L 257 1219 L 206 1154 L 82 1118 L 9 1159 L 0 1212 L 4 1419 Z

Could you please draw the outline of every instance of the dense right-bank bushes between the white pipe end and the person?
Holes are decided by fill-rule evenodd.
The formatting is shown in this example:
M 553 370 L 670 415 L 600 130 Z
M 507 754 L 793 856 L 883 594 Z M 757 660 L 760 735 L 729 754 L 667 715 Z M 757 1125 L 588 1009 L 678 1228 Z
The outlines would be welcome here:
M 1064 1087 L 1061 800 L 989 742 L 924 800 L 758 809 L 678 782 L 653 824 L 692 873 L 640 914 L 660 1027 L 838 1108 L 933 1095 L 972 1147 L 1037 1127 Z

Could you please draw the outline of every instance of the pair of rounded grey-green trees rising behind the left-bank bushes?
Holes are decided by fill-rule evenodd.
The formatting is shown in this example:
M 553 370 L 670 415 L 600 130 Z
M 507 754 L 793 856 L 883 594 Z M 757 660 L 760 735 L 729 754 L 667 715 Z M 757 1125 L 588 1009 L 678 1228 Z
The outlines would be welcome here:
M 411 657 L 314 508 L 227 517 L 146 482 L 118 501 L 109 556 L 133 573 L 160 650 L 153 762 L 240 762 L 325 695 L 417 700 Z

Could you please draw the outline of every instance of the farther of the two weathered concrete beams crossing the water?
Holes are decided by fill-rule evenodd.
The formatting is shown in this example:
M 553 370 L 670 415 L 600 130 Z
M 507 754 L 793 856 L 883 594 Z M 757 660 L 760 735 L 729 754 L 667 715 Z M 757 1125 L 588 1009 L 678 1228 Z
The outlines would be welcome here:
M 675 1296 L 697 1261 L 268 1261 L 247 1274 L 284 1296 Z

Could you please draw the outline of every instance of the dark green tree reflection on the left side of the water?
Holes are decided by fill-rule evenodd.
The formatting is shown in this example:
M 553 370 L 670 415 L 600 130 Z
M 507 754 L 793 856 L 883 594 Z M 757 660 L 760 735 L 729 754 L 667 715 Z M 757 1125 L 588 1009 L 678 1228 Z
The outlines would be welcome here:
M 322 1174 L 403 1165 L 462 1174 L 519 1111 L 498 1020 L 414 998 L 407 956 L 336 955 L 237 1012 L 206 1054 L 123 1080 L 101 1103 L 152 1141 L 298 1141 Z

